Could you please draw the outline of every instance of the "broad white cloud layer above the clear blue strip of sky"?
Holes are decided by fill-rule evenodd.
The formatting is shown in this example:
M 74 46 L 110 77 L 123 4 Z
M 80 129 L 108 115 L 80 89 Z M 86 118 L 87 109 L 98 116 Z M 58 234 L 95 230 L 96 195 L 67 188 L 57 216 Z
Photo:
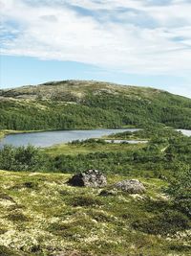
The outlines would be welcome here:
M 0 0 L 1 52 L 190 78 L 191 4 L 166 2 Z

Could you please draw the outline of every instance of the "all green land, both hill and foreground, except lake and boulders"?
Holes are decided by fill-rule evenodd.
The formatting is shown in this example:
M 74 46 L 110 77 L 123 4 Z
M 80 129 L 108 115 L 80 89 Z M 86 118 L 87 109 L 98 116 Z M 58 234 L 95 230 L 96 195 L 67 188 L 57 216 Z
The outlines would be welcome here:
M 0 137 L 12 130 L 130 126 L 142 129 L 107 138 L 148 141 L 0 149 L 6 170 L 0 171 L 0 255 L 190 255 L 191 137 L 173 129 L 191 128 L 189 99 L 95 81 L 0 90 L 0 97 Z M 87 169 L 107 175 L 108 185 L 67 184 Z M 146 193 L 114 189 L 127 178 L 138 178 Z

